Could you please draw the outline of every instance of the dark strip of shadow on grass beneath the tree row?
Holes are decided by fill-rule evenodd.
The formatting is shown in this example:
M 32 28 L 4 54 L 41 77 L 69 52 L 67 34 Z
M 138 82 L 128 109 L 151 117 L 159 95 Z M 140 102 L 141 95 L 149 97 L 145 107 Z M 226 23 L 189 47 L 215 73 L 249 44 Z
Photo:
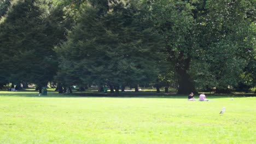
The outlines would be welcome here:
M 18 91 L 6 92 L 0 91 L 0 97 L 38 97 L 38 98 L 171 98 L 171 99 L 187 99 L 187 95 L 178 95 L 175 93 L 156 93 L 156 92 L 119 92 L 119 94 L 101 93 L 101 92 L 74 92 L 72 94 L 59 94 L 55 91 L 48 91 L 47 95 L 38 95 L 38 91 Z M 229 98 L 229 97 L 255 97 L 253 93 L 232 93 L 232 94 L 214 94 L 206 93 L 208 99 Z M 199 94 L 194 95 L 197 99 Z

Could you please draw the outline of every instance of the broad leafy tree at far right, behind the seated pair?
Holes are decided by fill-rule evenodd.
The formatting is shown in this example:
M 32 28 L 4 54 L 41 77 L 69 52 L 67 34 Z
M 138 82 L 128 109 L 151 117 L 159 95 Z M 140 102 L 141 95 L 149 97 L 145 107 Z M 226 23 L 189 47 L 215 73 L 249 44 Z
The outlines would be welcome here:
M 236 86 L 240 81 L 238 77 L 252 57 L 249 51 L 255 49 L 252 41 L 248 41 L 248 35 L 255 35 L 249 29 L 255 21 L 254 4 L 209 0 L 195 5 L 197 45 L 190 74 L 197 87 L 216 87 L 217 92 L 228 92 L 229 85 Z

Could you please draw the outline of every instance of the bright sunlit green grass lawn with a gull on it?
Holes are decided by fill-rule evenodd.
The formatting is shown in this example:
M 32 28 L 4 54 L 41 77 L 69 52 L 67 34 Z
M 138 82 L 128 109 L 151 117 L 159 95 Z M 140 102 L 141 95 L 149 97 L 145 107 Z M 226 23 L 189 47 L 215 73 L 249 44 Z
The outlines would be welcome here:
M 207 98 L 211 101 L 2 91 L 0 143 L 256 142 L 256 97 Z

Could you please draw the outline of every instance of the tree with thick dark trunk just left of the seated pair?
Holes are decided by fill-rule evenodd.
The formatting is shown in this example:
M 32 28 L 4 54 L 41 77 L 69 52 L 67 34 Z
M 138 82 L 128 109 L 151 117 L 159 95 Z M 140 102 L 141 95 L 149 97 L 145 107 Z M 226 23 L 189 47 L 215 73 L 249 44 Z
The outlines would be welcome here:
M 195 92 L 193 80 L 188 74 L 194 45 L 192 7 L 183 1 L 143 1 L 155 28 L 164 36 L 167 61 L 178 76 L 178 93 Z M 168 72 L 167 72 L 168 73 Z

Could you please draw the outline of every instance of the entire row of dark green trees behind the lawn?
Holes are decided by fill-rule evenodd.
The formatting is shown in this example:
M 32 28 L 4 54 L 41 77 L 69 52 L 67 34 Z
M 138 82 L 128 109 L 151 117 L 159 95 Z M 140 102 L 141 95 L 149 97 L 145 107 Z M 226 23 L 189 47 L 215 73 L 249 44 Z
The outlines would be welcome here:
M 0 87 L 255 87 L 253 0 L 3 0 Z M 63 89 L 64 88 L 64 89 Z

